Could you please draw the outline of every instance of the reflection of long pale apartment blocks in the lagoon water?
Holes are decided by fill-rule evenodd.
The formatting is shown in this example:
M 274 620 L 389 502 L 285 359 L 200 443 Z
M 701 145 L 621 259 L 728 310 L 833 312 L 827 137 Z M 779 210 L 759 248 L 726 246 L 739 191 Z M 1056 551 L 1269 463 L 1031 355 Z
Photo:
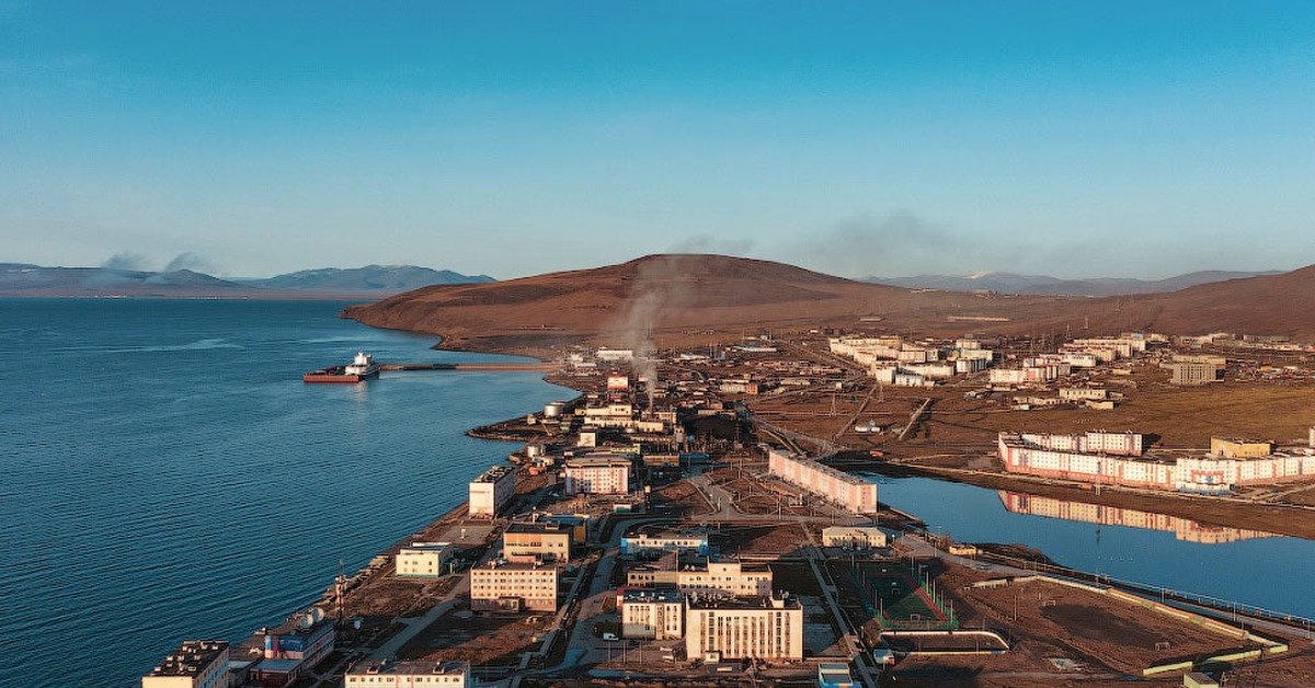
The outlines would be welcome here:
M 1173 535 L 1181 541 L 1199 542 L 1202 545 L 1220 545 L 1224 542 L 1237 542 L 1240 539 L 1276 537 L 1273 533 L 1265 533 L 1262 530 L 1211 526 L 1162 513 L 1120 509 L 1118 506 L 1106 506 L 1103 504 L 1057 500 L 1053 497 L 1040 497 L 1036 495 L 1024 495 L 1022 492 L 1009 492 L 1003 489 L 999 491 L 999 501 L 1005 505 L 1006 510 L 1013 513 L 1044 516 L 1047 518 L 1064 518 L 1066 521 L 1082 521 L 1086 524 L 1141 528 L 1145 530 L 1166 530 L 1173 533 Z

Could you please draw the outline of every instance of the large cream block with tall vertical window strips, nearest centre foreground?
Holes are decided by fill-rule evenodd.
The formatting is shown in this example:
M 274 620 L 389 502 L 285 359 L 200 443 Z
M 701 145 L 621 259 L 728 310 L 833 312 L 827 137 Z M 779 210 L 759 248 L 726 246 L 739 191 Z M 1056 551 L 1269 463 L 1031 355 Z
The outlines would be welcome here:
M 803 605 L 782 597 L 690 597 L 685 656 L 803 659 Z

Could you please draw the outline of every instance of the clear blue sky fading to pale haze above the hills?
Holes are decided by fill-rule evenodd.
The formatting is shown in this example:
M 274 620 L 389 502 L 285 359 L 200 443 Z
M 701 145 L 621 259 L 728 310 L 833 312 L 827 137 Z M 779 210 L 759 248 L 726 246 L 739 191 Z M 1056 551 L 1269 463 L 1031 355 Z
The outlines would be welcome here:
M 0 0 L 0 262 L 1315 263 L 1315 3 Z

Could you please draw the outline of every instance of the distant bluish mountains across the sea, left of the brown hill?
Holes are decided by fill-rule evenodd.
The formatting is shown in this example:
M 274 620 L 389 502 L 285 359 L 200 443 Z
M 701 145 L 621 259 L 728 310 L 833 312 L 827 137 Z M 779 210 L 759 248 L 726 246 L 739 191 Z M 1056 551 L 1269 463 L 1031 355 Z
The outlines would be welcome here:
M 0 296 L 134 296 L 179 299 L 383 299 L 434 284 L 494 282 L 416 266 L 326 267 L 267 279 L 220 279 L 192 270 L 153 272 L 112 267 L 0 263 Z

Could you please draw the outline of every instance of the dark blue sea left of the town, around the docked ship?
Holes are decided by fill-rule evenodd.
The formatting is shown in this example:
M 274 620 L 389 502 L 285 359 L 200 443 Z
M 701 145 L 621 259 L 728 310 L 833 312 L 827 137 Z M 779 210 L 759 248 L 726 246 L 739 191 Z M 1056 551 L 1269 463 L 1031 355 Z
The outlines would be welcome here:
M 463 433 L 573 392 L 538 374 L 301 374 L 494 360 L 345 303 L 0 300 L 0 687 L 134 685 L 241 641 L 466 499 L 513 445 Z

